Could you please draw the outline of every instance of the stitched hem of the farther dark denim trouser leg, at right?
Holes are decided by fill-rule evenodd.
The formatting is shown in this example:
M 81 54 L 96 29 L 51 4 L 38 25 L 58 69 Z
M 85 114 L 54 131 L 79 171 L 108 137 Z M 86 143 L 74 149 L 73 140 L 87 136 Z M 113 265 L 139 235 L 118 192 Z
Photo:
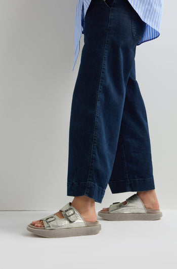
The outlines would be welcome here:
M 146 179 L 128 179 L 128 182 L 126 179 L 109 181 L 108 185 L 112 193 L 155 189 L 154 177 Z

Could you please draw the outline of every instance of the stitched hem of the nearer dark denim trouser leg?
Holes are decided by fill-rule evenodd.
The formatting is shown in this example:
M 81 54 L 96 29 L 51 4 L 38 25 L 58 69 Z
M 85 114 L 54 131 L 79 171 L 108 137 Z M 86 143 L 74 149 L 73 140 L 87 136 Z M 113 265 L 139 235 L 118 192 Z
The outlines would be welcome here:
M 67 182 L 67 196 L 88 196 L 98 203 L 102 203 L 105 189 L 92 181 Z

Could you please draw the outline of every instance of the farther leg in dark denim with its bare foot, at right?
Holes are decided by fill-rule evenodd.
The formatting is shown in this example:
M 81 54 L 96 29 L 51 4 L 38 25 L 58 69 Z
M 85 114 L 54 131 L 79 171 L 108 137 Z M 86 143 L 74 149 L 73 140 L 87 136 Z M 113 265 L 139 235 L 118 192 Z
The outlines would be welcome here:
M 147 114 L 136 80 L 135 62 L 126 86 L 117 152 L 108 184 L 112 193 L 138 191 L 137 194 L 145 207 L 159 209 L 153 178 Z M 126 204 L 126 201 L 123 204 Z

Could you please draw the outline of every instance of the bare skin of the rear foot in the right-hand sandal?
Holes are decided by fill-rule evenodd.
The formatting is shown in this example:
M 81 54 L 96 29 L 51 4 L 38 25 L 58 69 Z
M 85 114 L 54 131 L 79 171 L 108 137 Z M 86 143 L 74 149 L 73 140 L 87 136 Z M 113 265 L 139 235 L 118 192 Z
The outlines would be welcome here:
M 155 189 L 147 191 L 138 191 L 137 195 L 143 202 L 145 208 L 149 209 L 159 209 L 159 203 L 155 193 Z M 126 205 L 126 201 L 123 201 L 123 205 Z M 102 211 L 109 211 L 109 208 L 103 208 Z

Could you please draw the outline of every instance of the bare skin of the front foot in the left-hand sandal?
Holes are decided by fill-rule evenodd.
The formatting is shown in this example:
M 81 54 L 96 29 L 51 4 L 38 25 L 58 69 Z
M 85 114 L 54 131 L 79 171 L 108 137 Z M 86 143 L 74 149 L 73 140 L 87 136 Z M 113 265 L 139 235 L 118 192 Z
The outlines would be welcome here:
M 97 221 L 94 199 L 85 195 L 77 196 L 74 197 L 73 201 L 71 202 L 71 206 L 73 206 L 80 213 L 84 221 Z M 57 215 L 60 219 L 64 218 L 62 211 L 58 211 L 55 213 L 55 215 Z M 43 220 L 32 221 L 32 224 L 35 227 L 45 227 Z

